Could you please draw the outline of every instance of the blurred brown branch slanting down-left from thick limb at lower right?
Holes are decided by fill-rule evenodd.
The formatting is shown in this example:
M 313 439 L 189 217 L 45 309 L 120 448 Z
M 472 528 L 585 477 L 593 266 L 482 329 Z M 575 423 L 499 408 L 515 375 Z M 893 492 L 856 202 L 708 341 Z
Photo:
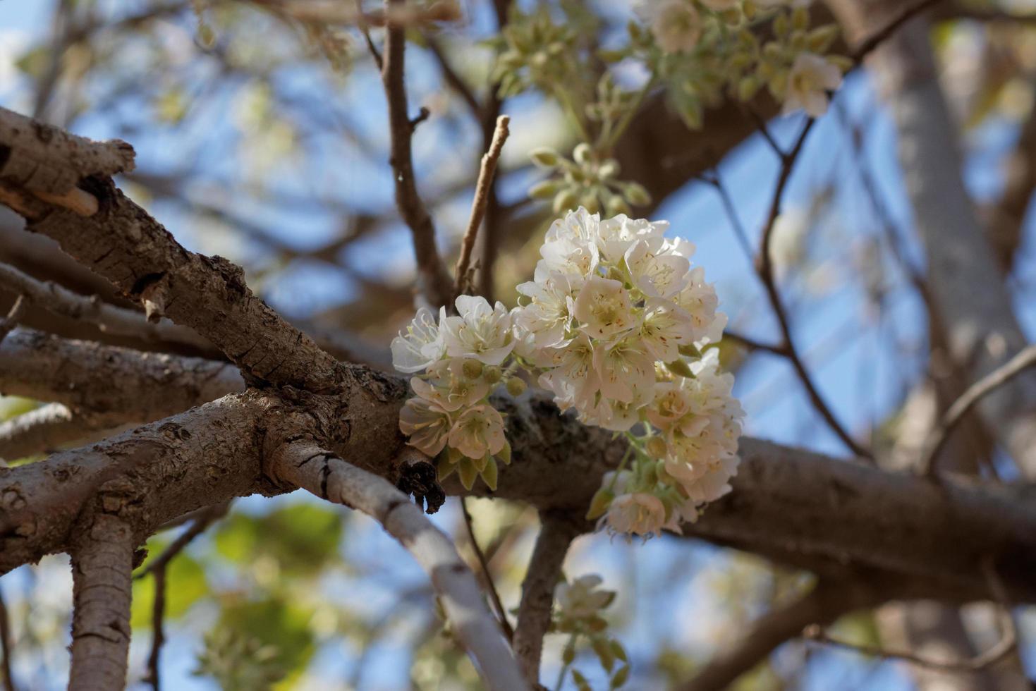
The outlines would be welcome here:
M 764 614 L 736 644 L 723 649 L 680 691 L 720 691 L 750 671 L 777 646 L 816 623 L 828 624 L 857 609 L 868 593 L 844 582 L 819 581 L 795 602 Z

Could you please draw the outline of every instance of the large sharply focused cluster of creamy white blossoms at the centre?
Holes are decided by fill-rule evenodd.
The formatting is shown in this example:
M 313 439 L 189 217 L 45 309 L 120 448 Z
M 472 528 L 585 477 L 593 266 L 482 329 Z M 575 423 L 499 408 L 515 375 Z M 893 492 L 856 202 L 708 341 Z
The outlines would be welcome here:
M 392 346 L 397 369 L 421 373 L 400 415 L 409 443 L 439 455 L 442 473 L 459 470 L 466 487 L 480 473 L 495 487 L 510 448 L 488 397 L 501 381 L 519 394 L 522 370 L 563 411 L 629 439 L 591 518 L 623 534 L 679 530 L 728 491 L 743 412 L 708 347 L 726 319 L 691 266 L 694 246 L 664 237 L 667 227 L 579 208 L 547 231 L 511 312 L 467 295 L 438 323 L 419 312 Z

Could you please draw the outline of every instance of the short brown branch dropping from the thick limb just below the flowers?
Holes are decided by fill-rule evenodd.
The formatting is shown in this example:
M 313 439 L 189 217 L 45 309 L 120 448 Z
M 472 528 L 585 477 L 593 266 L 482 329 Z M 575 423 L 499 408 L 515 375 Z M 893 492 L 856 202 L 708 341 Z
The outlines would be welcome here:
M 554 586 L 569 545 L 580 532 L 578 525 L 566 517 L 549 513 L 541 513 L 540 517 L 542 527 L 522 581 L 518 628 L 514 635 L 515 653 L 525 678 L 533 684 L 540 681 L 543 637 L 550 628 Z

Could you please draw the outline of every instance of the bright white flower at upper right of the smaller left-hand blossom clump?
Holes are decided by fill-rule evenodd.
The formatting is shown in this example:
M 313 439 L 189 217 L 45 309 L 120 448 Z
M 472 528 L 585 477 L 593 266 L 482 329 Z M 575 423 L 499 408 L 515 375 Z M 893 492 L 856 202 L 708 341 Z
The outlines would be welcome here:
M 485 297 L 459 295 L 457 317 L 444 317 L 439 328 L 447 354 L 499 365 L 514 349 L 511 314 L 501 303 L 490 308 Z

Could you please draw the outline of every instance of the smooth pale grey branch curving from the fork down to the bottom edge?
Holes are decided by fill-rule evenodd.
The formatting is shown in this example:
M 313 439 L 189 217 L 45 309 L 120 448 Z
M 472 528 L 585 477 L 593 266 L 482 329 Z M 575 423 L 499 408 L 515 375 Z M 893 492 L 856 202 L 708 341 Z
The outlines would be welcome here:
M 280 445 L 266 473 L 376 519 L 425 570 L 447 617 L 490 689 L 527 691 L 518 663 L 486 609 L 474 576 L 441 530 L 386 480 L 307 442 Z

